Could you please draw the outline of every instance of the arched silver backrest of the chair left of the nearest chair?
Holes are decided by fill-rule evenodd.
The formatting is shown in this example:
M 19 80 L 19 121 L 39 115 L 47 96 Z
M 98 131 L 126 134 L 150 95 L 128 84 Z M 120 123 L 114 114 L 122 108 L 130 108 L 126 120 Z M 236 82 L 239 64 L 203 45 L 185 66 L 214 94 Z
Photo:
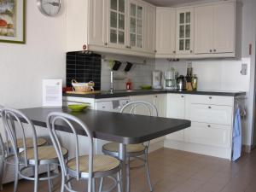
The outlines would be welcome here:
M 35 126 L 32 124 L 32 121 L 26 117 L 24 113 L 21 113 L 19 110 L 14 108 L 3 108 L 2 109 L 2 119 L 3 119 L 3 127 L 4 131 L 6 132 L 6 148 L 12 148 L 12 152 L 15 154 L 15 162 L 19 164 L 20 162 L 20 147 L 23 149 L 22 160 L 25 166 L 27 166 L 27 146 L 26 143 L 26 134 L 24 124 L 28 125 L 26 129 L 30 129 L 32 131 L 32 147 L 34 152 L 33 160 L 35 160 L 35 166 L 38 167 L 38 139 L 37 139 L 37 132 Z M 16 131 L 19 131 L 21 134 L 22 144 L 21 146 L 17 146 L 17 136 Z M 28 131 L 28 130 L 27 130 Z M 9 146 L 9 143 L 11 146 Z M 30 147 L 31 148 L 31 147 Z M 8 150 L 9 151 L 9 150 Z M 7 152 L 9 154 L 9 152 Z

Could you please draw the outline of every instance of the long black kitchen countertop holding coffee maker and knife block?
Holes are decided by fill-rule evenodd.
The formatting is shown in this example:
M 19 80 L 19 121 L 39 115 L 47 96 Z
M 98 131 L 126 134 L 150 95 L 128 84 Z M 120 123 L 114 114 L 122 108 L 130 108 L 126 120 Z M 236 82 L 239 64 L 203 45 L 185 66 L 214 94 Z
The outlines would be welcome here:
M 75 94 L 75 93 L 64 93 L 63 96 L 77 96 L 94 99 L 113 98 L 113 97 L 124 97 L 124 96 L 143 96 L 143 95 L 154 95 L 154 94 L 166 94 L 166 93 L 177 93 L 177 94 L 192 94 L 192 95 L 210 95 L 210 96 L 243 96 L 246 92 L 239 91 L 218 91 L 218 90 L 114 90 L 113 93 L 109 91 L 102 91 L 94 94 Z

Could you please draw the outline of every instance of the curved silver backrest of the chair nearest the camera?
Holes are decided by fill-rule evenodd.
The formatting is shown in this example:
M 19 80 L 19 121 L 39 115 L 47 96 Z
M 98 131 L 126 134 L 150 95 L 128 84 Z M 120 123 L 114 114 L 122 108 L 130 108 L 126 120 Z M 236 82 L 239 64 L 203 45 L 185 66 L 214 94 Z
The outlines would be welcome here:
M 63 123 L 64 123 L 64 125 L 63 125 Z M 80 172 L 79 172 L 80 165 L 79 165 L 79 139 L 78 139 L 76 127 L 77 128 L 78 128 L 78 126 L 81 127 L 89 139 L 88 191 L 91 191 L 91 179 L 92 179 L 92 173 L 93 173 L 93 166 L 92 166 L 93 165 L 93 137 L 92 137 L 92 134 L 91 134 L 89 128 L 87 127 L 87 125 L 84 124 L 84 122 L 82 122 L 80 119 L 78 119 L 77 117 L 75 117 L 71 114 L 59 113 L 59 112 L 49 113 L 49 115 L 47 117 L 47 127 L 49 129 L 49 135 L 50 135 L 51 141 L 55 146 L 55 151 L 56 151 L 56 153 L 58 155 L 58 159 L 60 161 L 62 178 L 64 176 L 65 177 L 67 176 L 67 170 L 66 170 L 65 160 L 64 160 L 63 154 L 61 152 L 61 142 L 60 142 L 59 138 L 57 137 L 57 133 L 56 133 L 56 126 L 60 125 L 60 124 L 65 126 L 66 128 L 69 128 L 70 131 L 73 133 L 74 142 L 75 142 L 75 160 L 76 160 L 76 173 L 77 173 L 76 177 L 78 180 L 80 178 Z

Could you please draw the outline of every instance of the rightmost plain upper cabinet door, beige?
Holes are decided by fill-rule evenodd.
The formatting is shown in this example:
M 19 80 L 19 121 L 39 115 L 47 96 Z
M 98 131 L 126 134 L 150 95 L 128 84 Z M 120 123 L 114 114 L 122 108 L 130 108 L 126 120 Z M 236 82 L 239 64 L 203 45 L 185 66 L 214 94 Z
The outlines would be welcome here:
M 214 6 L 214 53 L 235 52 L 236 3 Z

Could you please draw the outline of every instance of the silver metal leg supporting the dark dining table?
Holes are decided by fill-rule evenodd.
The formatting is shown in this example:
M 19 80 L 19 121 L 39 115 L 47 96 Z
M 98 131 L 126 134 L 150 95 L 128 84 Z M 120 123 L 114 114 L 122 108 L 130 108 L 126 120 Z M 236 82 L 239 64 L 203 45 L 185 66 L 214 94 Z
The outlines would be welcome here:
M 121 171 L 121 181 L 122 181 L 122 191 L 130 192 L 130 177 L 129 172 L 127 172 L 126 165 L 126 145 L 123 143 L 119 143 L 119 160 L 121 160 L 122 171 Z M 128 173 L 128 174 L 127 174 Z

